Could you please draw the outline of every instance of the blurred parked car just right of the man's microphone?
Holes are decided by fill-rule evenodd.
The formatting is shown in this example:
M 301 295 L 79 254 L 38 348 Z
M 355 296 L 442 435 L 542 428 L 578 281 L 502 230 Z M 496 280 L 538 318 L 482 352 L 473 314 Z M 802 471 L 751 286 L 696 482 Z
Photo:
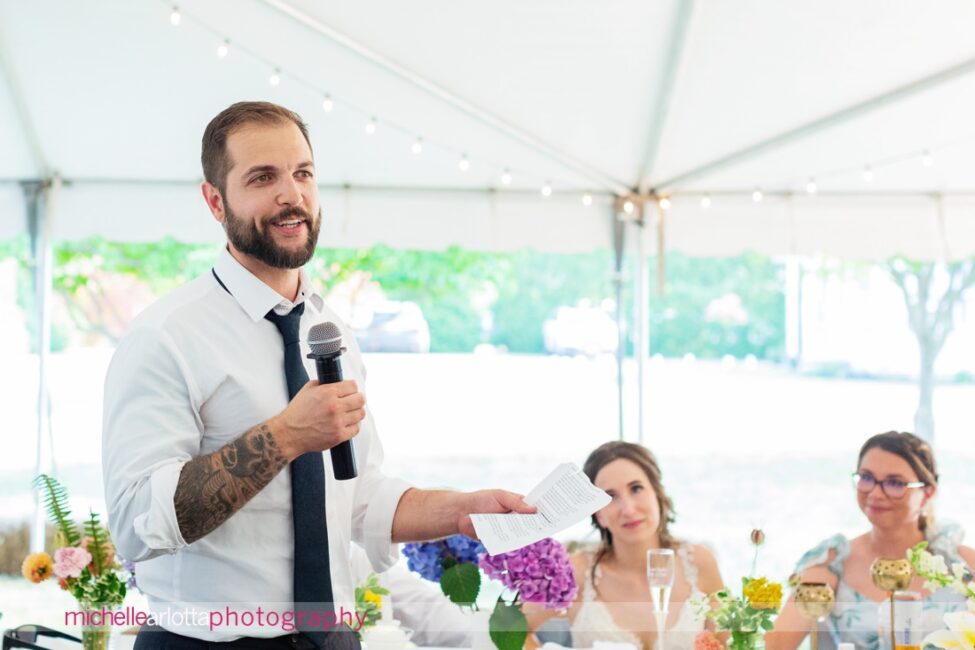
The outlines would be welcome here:
M 423 310 L 408 300 L 384 300 L 368 324 L 352 330 L 363 352 L 429 352 L 430 326 Z

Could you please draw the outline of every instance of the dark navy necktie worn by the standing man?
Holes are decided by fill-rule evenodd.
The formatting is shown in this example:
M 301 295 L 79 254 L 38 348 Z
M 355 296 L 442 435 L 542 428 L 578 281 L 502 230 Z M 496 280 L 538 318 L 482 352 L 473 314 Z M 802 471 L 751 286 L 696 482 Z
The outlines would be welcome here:
M 284 316 L 274 310 L 267 318 L 284 339 L 284 375 L 288 380 L 288 397 L 293 399 L 308 383 L 308 373 L 301 361 L 298 328 L 305 304 L 301 303 Z M 325 524 L 325 464 L 320 452 L 302 454 L 291 462 L 291 503 L 295 528 L 294 597 L 296 612 L 332 612 L 332 577 L 328 566 L 328 529 Z M 296 616 L 296 620 L 300 620 Z M 302 629 L 304 626 L 296 626 Z M 303 630 L 319 646 L 326 634 L 321 627 Z

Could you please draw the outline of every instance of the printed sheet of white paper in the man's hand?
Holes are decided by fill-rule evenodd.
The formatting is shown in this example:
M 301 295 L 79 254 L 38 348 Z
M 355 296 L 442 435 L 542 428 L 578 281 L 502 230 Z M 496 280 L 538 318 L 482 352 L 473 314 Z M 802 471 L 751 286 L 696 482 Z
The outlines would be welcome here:
M 507 553 L 551 537 L 585 519 L 611 501 L 572 463 L 563 463 L 525 496 L 532 515 L 471 515 L 474 530 L 491 555 Z

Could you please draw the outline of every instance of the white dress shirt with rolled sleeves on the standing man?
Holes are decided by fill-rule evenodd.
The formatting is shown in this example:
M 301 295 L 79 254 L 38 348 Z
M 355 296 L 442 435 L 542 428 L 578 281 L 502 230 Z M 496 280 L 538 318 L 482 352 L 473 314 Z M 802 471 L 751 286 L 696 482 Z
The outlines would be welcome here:
M 291 470 L 286 466 L 239 511 L 205 537 L 187 544 L 173 498 L 183 465 L 238 438 L 288 404 L 284 344 L 264 318 L 286 313 L 289 300 L 264 284 L 224 249 L 212 273 L 149 307 L 118 344 L 105 382 L 102 471 L 109 525 L 119 553 L 137 562 L 139 587 L 156 623 L 210 641 L 287 633 L 273 625 L 218 626 L 210 612 L 286 612 L 293 606 L 294 530 Z M 308 329 L 336 323 L 348 351 L 346 379 L 365 392 L 365 369 L 348 327 L 314 292 L 301 271 L 297 301 L 302 358 Z M 314 363 L 305 360 L 310 377 Z M 396 559 L 393 515 L 409 485 L 386 477 L 383 452 L 367 412 L 355 438 L 358 478 L 336 481 L 325 454 L 328 523 L 335 608 L 354 611 L 350 542 L 379 569 Z M 182 612 L 182 615 L 179 615 Z M 206 623 L 200 623 L 206 619 Z M 229 617 L 228 623 L 231 622 Z

